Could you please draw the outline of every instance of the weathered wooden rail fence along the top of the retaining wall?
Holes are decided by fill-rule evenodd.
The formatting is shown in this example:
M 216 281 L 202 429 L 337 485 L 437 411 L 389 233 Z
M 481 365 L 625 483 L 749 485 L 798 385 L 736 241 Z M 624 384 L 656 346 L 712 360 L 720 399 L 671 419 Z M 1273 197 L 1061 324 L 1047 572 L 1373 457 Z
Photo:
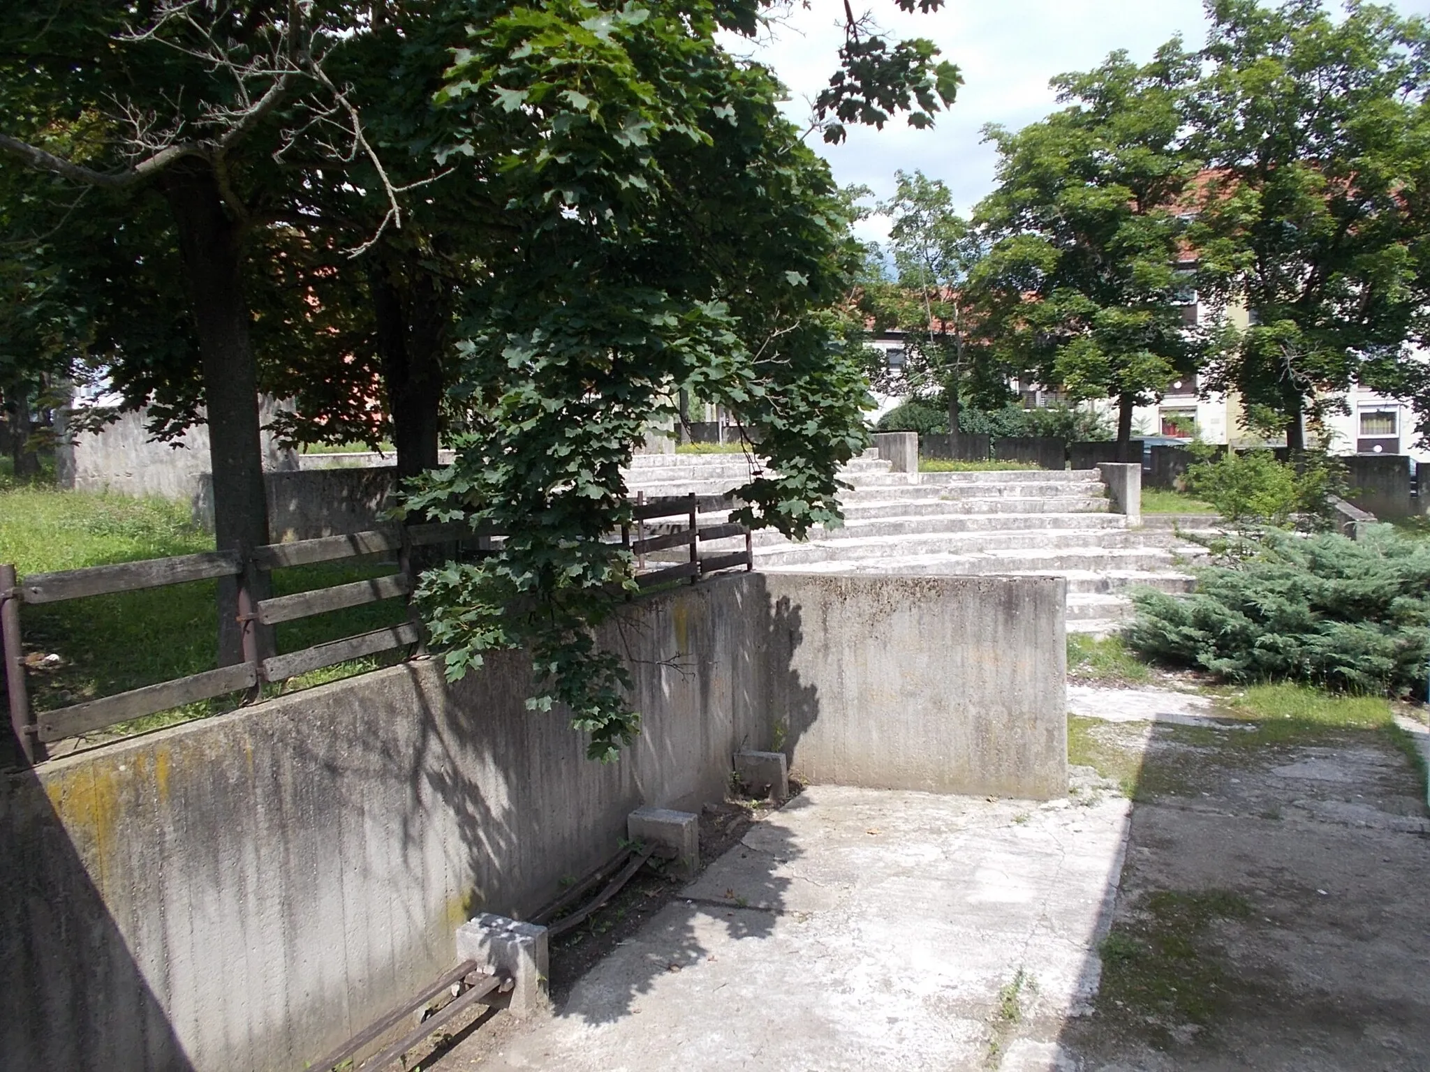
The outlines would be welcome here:
M 699 513 L 729 510 L 732 505 L 734 500 L 728 496 L 695 495 L 652 500 L 642 496 L 635 502 L 632 505 L 635 523 L 621 532 L 621 543 L 635 556 L 636 583 L 642 589 L 648 589 L 688 577 L 694 585 L 702 576 L 716 570 L 735 566 L 752 569 L 749 529 L 744 525 L 706 525 L 704 527 L 698 525 Z M 661 519 L 666 520 L 661 522 Z M 672 523 L 668 519 L 679 520 Z M 652 535 L 646 535 L 646 532 Z M 323 536 L 292 543 L 270 543 L 256 547 L 247 560 L 233 552 L 206 552 L 169 559 L 126 562 L 114 566 L 92 566 L 60 573 L 31 573 L 26 577 L 17 577 L 14 566 L 0 565 L 0 640 L 3 640 L 10 725 L 20 753 L 26 762 L 34 763 L 44 759 L 47 743 L 64 738 L 90 733 L 119 722 L 129 722 L 144 715 L 233 692 L 249 692 L 252 699 L 267 682 L 282 682 L 325 666 L 335 666 L 349 659 L 378 655 L 396 647 L 416 649 L 423 637 L 415 613 L 409 613 L 409 620 L 402 625 L 267 657 L 260 657 L 259 653 L 257 626 L 292 622 L 385 599 L 405 599 L 412 593 L 415 585 L 412 570 L 412 552 L 415 549 L 439 543 L 490 540 L 500 536 L 502 533 L 495 529 L 473 529 L 466 523 L 455 522 L 373 529 L 347 536 Z M 744 550 L 699 556 L 702 542 L 736 536 L 745 537 Z M 649 556 L 681 547 L 689 549 L 686 560 L 646 569 Z M 255 597 L 255 592 L 267 590 L 267 586 L 260 583 L 262 576 L 275 569 L 382 553 L 396 553 L 396 573 L 289 596 Z M 217 577 L 237 579 L 237 617 L 243 642 L 243 662 L 66 708 L 36 712 L 30 706 L 20 633 L 21 605 L 57 603 L 86 596 L 136 592 Z

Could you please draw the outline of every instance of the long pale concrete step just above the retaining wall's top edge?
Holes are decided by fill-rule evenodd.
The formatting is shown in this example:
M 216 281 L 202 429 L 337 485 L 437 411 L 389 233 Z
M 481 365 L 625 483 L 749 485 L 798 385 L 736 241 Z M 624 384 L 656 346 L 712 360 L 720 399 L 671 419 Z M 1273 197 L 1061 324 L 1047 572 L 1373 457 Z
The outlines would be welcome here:
M 1067 570 L 1177 570 L 1171 552 L 1161 547 L 1071 546 L 1048 550 L 994 549 L 967 553 L 891 555 L 879 559 L 828 559 L 824 562 L 764 562 L 756 569 L 771 573 L 907 573 L 987 575 L 1064 573 Z

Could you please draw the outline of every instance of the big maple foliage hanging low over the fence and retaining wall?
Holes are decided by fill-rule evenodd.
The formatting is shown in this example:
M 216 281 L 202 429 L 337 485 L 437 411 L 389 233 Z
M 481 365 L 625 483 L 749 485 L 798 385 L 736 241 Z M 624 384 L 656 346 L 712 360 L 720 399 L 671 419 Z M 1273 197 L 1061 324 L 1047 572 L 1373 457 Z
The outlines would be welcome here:
M 759 462 L 741 517 L 837 523 L 862 449 L 858 347 L 834 306 L 858 264 L 848 203 L 778 113 L 768 71 L 715 41 L 724 6 L 553 3 L 469 26 L 436 101 L 439 157 L 480 166 L 509 242 L 463 290 L 458 459 L 409 509 L 511 533 L 419 599 L 459 678 L 531 650 L 541 695 L 613 759 L 638 729 L 596 629 L 635 590 L 621 467 L 681 390 L 735 415 Z

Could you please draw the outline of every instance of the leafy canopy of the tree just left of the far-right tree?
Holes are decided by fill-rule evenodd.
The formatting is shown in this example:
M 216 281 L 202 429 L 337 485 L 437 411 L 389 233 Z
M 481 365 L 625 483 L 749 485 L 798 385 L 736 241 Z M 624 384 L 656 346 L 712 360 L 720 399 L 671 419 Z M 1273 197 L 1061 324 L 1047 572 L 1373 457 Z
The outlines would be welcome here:
M 1151 402 L 1194 360 L 1177 299 L 1178 203 L 1195 164 L 1183 99 L 1197 69 L 1178 40 L 1153 63 L 1123 51 L 1054 79 L 1068 107 L 998 147 L 998 187 L 977 210 L 994 236 L 975 273 L 981 303 L 1015 367 L 1075 400 Z

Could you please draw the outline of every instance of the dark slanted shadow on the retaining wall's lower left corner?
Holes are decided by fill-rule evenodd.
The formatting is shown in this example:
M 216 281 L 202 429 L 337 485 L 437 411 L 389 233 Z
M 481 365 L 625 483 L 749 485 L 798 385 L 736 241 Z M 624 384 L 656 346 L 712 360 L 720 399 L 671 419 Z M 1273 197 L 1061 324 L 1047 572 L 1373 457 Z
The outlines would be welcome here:
M 0 962 L 9 982 L 0 993 L 0 1066 L 99 1072 L 137 1068 L 134 1055 L 143 1055 L 144 1069 L 192 1072 L 44 788 L 30 770 L 3 778 Z M 102 810 L 103 788 L 94 793 Z M 17 829 L 31 836 L 17 838 Z M 76 1021 L 84 1029 L 51 1028 Z

